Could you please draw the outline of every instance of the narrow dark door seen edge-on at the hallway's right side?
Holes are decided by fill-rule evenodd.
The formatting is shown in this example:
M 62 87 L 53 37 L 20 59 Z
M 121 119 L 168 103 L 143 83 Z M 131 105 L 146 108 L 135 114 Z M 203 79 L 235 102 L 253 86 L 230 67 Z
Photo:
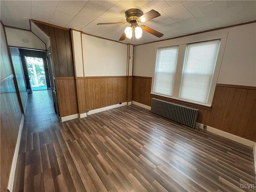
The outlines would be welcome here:
M 53 72 L 53 66 L 52 66 L 52 56 L 51 56 L 51 50 L 48 48 L 47 52 L 47 60 L 48 60 L 48 69 L 49 69 L 49 75 L 50 75 L 50 82 L 52 87 L 52 98 L 54 103 L 54 110 L 56 114 L 59 115 L 59 107 L 58 107 L 58 99 L 57 99 L 57 91 L 55 86 L 55 79 L 54 79 L 54 72 Z

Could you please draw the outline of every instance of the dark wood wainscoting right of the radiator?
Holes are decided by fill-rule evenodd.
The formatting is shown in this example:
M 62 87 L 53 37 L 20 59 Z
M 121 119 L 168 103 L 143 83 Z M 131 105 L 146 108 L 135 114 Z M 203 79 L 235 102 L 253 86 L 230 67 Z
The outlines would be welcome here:
M 217 84 L 207 125 L 256 142 L 256 87 Z

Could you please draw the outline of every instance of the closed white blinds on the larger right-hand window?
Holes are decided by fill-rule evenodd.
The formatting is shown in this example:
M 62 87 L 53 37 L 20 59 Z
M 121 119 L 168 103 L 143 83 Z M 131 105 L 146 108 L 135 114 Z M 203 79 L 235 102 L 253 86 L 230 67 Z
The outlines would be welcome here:
M 206 104 L 220 40 L 188 44 L 179 98 Z

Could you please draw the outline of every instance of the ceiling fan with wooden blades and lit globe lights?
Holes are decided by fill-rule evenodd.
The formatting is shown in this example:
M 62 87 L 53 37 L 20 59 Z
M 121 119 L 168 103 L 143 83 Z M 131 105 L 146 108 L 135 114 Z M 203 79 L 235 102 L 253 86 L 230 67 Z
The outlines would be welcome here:
M 139 9 L 128 9 L 125 12 L 125 17 L 127 22 L 116 22 L 116 23 L 98 23 L 97 25 L 110 25 L 110 24 L 131 24 L 131 26 L 126 27 L 124 33 L 120 37 L 119 41 L 125 40 L 125 38 L 132 38 L 133 32 L 135 32 L 135 37 L 138 39 L 142 36 L 142 30 L 146 31 L 156 37 L 162 37 L 164 34 L 149 28 L 145 25 L 139 26 L 138 23 L 143 23 L 150 19 L 159 17 L 160 13 L 156 10 L 150 10 L 149 12 L 143 14 L 142 10 Z

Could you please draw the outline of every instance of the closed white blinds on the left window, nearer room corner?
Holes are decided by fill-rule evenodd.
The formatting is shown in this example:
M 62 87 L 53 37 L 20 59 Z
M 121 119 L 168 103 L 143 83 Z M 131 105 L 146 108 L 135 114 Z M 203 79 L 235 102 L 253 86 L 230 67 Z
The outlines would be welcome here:
M 178 46 L 158 49 L 154 93 L 172 96 L 177 58 Z

